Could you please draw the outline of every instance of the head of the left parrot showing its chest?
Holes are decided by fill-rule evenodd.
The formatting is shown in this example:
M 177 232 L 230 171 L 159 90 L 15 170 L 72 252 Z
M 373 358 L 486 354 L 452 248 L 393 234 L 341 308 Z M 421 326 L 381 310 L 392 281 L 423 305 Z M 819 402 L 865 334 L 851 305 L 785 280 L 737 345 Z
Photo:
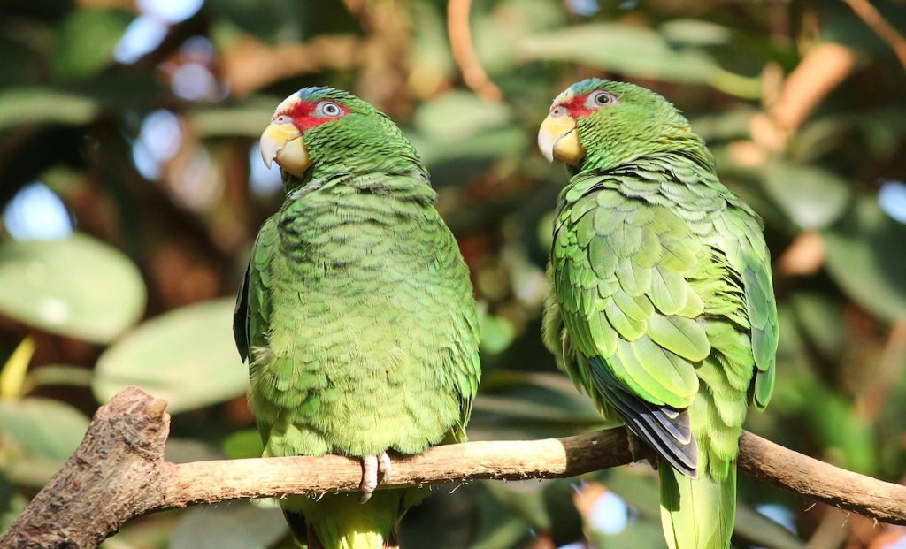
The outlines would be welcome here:
M 350 92 L 303 88 L 274 111 L 261 158 L 276 162 L 287 190 L 314 180 L 368 173 L 428 176 L 400 128 Z

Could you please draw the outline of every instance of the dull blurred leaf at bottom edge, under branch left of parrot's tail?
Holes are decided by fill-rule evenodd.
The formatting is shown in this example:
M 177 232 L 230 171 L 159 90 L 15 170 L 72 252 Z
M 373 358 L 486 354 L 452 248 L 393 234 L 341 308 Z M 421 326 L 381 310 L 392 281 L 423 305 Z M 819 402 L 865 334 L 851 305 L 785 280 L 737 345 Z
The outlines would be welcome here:
M 246 501 L 189 509 L 170 536 L 169 549 L 265 549 L 286 534 L 283 514 Z

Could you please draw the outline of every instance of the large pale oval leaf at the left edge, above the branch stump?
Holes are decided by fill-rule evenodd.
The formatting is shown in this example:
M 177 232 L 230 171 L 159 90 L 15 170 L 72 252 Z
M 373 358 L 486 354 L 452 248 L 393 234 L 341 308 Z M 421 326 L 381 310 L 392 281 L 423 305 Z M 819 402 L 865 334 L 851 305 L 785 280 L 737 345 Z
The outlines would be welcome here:
M 145 308 L 139 270 L 90 236 L 0 246 L 0 313 L 47 332 L 111 342 Z

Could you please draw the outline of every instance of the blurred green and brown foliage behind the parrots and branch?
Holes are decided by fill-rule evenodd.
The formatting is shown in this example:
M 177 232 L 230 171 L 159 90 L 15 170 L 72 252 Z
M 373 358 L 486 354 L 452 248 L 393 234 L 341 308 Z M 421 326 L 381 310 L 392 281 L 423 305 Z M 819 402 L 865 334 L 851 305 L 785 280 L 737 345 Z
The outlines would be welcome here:
M 232 296 L 282 200 L 257 136 L 277 101 L 313 84 L 378 105 L 428 163 L 483 315 L 472 438 L 603 427 L 539 342 L 565 176 L 534 140 L 557 92 L 606 75 L 686 111 L 723 180 L 765 217 L 782 334 L 775 399 L 749 429 L 904 480 L 906 45 L 896 29 L 906 31 L 906 5 L 488 0 L 467 10 L 461 0 L 0 4 L 0 527 L 68 457 L 98 403 L 128 384 L 169 400 L 170 459 L 259 451 Z M 747 477 L 739 491 L 739 547 L 906 544 L 901 529 Z M 410 513 L 403 539 L 662 546 L 644 466 L 443 487 Z M 104 546 L 291 545 L 271 503 L 244 502 L 144 517 Z

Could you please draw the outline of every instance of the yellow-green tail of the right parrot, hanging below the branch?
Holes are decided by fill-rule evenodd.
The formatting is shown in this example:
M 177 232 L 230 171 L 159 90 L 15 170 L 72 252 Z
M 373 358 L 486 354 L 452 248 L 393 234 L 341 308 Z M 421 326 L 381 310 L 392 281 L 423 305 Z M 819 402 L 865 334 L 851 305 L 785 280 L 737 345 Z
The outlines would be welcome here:
M 670 549 L 727 549 L 736 519 L 736 467 L 723 480 L 660 467 L 660 522 Z

